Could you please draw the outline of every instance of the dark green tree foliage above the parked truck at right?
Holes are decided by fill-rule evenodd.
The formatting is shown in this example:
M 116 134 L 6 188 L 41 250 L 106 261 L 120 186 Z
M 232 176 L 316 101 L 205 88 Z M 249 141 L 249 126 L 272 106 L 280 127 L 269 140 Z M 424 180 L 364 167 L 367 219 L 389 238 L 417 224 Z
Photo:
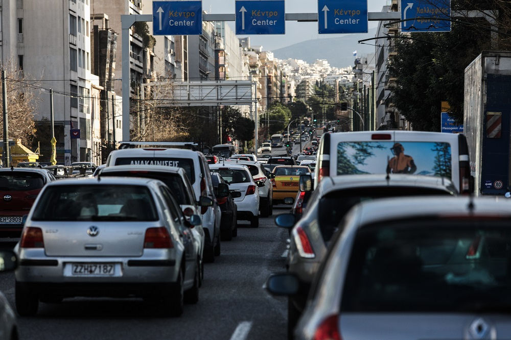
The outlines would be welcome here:
M 511 2 L 453 0 L 452 11 L 457 14 L 451 32 L 413 33 L 394 41 L 397 56 L 388 66 L 397 78 L 392 101 L 414 130 L 440 130 L 442 101 L 462 123 L 464 69 L 482 51 L 511 50 Z

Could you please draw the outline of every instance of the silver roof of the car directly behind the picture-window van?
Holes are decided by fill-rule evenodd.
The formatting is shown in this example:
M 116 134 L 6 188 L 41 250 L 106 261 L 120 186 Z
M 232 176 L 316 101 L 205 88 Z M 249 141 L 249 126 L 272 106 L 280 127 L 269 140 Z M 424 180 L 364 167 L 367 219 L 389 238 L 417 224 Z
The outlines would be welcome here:
M 392 174 L 388 178 L 384 174 L 340 175 L 324 177 L 319 188 L 324 193 L 340 188 L 376 187 L 376 186 L 413 186 L 421 188 L 438 188 L 458 193 L 454 183 L 445 177 L 425 175 Z M 324 195 L 323 193 L 323 195 Z

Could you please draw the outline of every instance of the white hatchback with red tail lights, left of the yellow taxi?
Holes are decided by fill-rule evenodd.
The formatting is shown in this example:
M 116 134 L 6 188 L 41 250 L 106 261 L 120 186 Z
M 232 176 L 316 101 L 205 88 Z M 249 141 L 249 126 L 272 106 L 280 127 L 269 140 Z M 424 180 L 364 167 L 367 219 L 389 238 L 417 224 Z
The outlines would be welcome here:
M 258 186 L 264 186 L 263 182 L 256 184 L 250 170 L 246 165 L 225 164 L 210 165 L 213 173 L 219 173 L 230 191 L 241 192 L 241 197 L 234 201 L 238 206 L 238 220 L 250 221 L 250 227 L 259 227 L 259 190 Z

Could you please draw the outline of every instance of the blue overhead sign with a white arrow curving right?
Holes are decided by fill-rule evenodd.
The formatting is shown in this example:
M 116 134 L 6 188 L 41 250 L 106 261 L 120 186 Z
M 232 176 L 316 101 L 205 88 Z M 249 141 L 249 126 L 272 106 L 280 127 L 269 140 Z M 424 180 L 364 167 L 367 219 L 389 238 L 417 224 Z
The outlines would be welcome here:
M 451 0 L 401 0 L 401 30 L 450 32 Z

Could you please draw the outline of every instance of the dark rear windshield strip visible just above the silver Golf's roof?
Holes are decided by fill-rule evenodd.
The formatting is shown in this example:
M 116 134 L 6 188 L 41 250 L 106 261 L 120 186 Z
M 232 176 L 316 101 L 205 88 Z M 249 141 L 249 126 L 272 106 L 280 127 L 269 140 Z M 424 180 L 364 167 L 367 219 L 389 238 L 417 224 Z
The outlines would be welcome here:
M 190 201 L 190 196 L 186 195 L 186 188 L 183 183 L 183 179 L 178 174 L 135 170 L 135 171 L 103 172 L 101 174 L 101 177 L 104 176 L 143 177 L 157 179 L 167 184 L 167 186 L 169 187 L 170 191 L 173 193 L 176 201 L 179 204 L 187 205 L 192 204 L 192 202 Z

